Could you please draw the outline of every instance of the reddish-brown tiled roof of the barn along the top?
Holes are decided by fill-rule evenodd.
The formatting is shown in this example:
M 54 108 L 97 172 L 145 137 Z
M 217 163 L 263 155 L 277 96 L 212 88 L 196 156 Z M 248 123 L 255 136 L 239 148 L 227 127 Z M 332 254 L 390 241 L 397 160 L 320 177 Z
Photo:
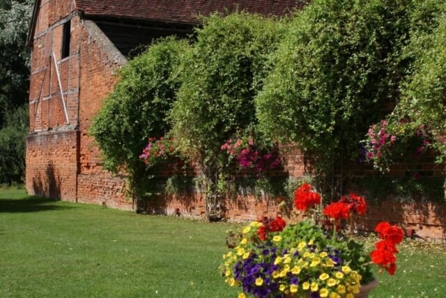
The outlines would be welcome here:
M 245 11 L 261 15 L 286 15 L 302 8 L 301 0 L 75 0 L 87 16 L 123 17 L 157 22 L 197 23 L 197 15 L 215 11 Z

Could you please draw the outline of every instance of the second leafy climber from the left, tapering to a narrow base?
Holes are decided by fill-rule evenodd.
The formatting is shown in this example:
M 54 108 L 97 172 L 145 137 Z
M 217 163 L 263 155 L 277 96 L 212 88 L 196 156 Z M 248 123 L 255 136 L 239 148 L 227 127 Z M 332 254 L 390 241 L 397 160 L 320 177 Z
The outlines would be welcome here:
M 237 133 L 255 130 L 254 96 L 285 27 L 245 13 L 212 15 L 204 22 L 183 61 L 171 123 L 180 150 L 198 162 L 207 190 L 215 192 L 227 159 L 220 147 Z

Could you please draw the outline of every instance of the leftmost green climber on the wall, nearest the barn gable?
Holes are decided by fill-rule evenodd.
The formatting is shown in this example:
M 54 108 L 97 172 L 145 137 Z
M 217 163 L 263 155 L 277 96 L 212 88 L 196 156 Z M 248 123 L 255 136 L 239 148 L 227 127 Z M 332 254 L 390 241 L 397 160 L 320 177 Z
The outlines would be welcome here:
M 169 132 L 166 118 L 179 86 L 176 71 L 189 48 L 187 41 L 174 38 L 148 47 L 121 70 L 120 81 L 93 120 L 90 133 L 102 150 L 104 167 L 125 171 L 137 198 L 150 189 L 148 178 L 153 177 L 139 155 L 148 136 Z

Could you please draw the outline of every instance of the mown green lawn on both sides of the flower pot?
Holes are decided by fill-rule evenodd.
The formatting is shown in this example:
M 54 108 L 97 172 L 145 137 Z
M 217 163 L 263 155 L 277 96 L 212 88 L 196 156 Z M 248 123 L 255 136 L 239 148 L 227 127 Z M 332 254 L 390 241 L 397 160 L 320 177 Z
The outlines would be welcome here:
M 217 269 L 231 227 L 0 189 L 0 297 L 237 297 Z M 370 297 L 444 297 L 445 262 L 404 242 Z

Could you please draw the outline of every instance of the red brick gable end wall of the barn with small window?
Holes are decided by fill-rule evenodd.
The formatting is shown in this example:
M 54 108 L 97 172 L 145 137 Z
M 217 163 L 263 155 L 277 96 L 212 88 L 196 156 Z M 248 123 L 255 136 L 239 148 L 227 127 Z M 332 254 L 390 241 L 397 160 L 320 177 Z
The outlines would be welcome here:
M 125 58 L 94 24 L 72 13 L 71 2 L 40 3 L 31 63 L 26 188 L 30 194 L 130 210 L 123 180 L 102 170 L 100 152 L 88 136 L 91 119 L 113 90 L 114 74 Z M 66 58 L 64 24 L 70 24 Z

